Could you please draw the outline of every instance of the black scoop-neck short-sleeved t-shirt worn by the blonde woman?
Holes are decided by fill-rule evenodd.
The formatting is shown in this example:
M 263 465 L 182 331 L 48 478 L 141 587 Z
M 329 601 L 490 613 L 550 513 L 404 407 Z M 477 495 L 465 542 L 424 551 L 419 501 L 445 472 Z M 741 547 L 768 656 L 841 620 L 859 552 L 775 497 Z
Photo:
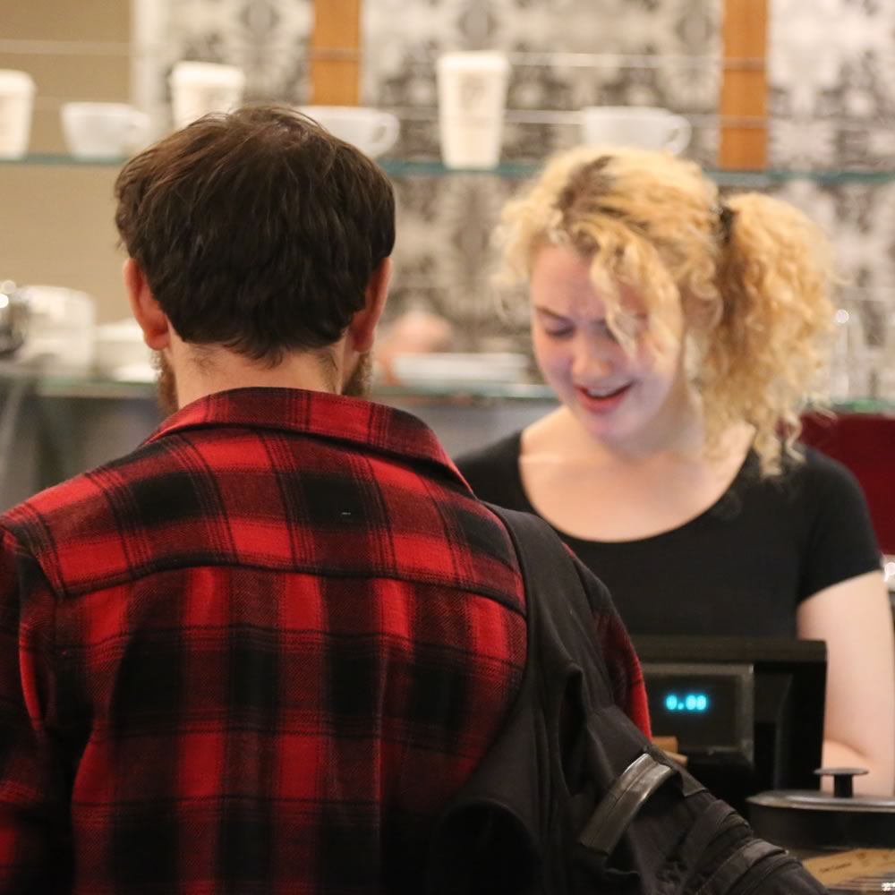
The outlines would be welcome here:
M 482 500 L 534 513 L 520 441 L 521 432 L 456 465 Z M 612 542 L 558 534 L 608 585 L 635 634 L 794 636 L 799 602 L 880 567 L 857 480 L 804 450 L 804 464 L 788 461 L 773 479 L 758 475 L 750 453 L 712 507 L 669 532 Z

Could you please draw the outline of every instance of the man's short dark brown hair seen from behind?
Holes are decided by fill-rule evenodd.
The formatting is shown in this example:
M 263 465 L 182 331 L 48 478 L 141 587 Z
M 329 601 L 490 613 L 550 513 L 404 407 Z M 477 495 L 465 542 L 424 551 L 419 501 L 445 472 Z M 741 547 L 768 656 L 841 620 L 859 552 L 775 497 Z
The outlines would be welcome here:
M 337 342 L 395 243 L 386 175 L 286 108 L 200 118 L 124 166 L 115 197 L 177 334 L 270 363 Z

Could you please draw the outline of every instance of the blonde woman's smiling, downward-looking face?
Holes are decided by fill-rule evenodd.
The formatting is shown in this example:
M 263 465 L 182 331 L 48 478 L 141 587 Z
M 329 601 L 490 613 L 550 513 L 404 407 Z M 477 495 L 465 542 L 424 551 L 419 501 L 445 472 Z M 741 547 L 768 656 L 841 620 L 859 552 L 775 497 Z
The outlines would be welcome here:
M 643 302 L 622 286 L 622 323 L 634 340 L 628 354 L 606 320 L 592 285 L 589 259 L 567 246 L 537 254 L 530 281 L 534 353 L 544 379 L 592 438 L 637 448 L 674 430 L 687 401 L 683 375 L 684 324 L 679 308 L 666 321 L 672 339 L 648 328 Z

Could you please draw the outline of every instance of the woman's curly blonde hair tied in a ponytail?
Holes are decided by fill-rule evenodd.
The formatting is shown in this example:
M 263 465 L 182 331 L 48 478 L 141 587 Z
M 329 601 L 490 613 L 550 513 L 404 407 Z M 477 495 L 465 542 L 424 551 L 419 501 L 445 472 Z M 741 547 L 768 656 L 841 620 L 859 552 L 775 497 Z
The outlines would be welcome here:
M 707 453 L 746 422 L 763 474 L 795 454 L 799 411 L 818 397 L 834 282 L 830 245 L 800 211 L 755 192 L 722 202 L 699 166 L 667 153 L 586 146 L 552 158 L 507 204 L 499 238 L 504 284 L 526 282 L 545 244 L 590 259 L 609 327 L 628 348 L 619 284 L 638 290 L 656 333 L 681 307 Z

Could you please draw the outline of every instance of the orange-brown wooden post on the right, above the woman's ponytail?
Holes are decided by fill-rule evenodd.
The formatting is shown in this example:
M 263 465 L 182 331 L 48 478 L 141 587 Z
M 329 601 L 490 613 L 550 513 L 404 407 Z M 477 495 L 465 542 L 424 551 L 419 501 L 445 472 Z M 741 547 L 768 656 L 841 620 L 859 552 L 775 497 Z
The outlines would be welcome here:
M 724 0 L 718 153 L 718 165 L 722 168 L 767 166 L 768 3 L 769 0 Z M 730 122 L 731 118 L 761 120 L 737 124 Z

